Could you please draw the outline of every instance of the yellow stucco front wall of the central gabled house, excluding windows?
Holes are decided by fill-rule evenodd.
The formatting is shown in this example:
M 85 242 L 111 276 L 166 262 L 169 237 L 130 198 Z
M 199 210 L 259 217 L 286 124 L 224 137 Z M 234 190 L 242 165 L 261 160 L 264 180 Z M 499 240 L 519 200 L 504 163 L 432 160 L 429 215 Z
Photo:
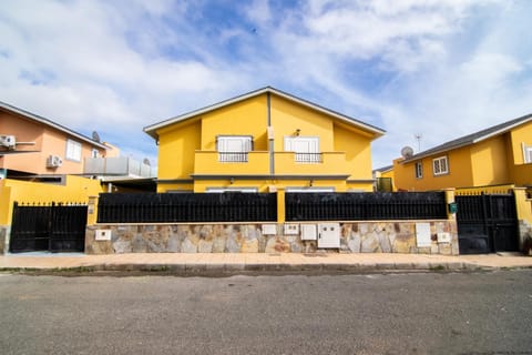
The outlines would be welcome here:
M 371 141 L 372 132 L 366 132 L 326 113 L 313 110 L 276 94 L 269 95 L 269 119 L 273 128 L 274 160 L 270 163 L 268 140 L 268 95 L 266 93 L 244 101 L 227 104 L 157 130 L 158 135 L 158 184 L 157 191 L 205 191 L 209 186 L 224 186 L 235 178 L 229 187 L 257 187 L 266 192 L 273 184 L 307 186 L 320 184 L 311 175 L 344 175 L 357 190 L 371 191 Z M 336 123 L 335 123 L 336 122 Z M 285 136 L 318 136 L 320 163 L 295 162 L 293 152 L 285 152 Z M 217 135 L 250 135 L 253 152 L 244 163 L 219 162 L 216 152 Z M 275 175 L 283 181 L 272 182 Z M 201 175 L 198 178 L 198 175 Z M 206 175 L 219 175 L 206 181 Z M 247 175 L 246 179 L 238 176 Z M 249 175 L 260 178 L 252 179 Z M 286 176 L 294 175 L 294 179 Z M 305 179 L 297 176 L 305 175 Z M 306 179 L 310 176 L 309 179 Z M 203 178 L 202 178 L 203 176 Z M 194 182 L 193 182 L 194 180 Z M 364 180 L 364 182 L 362 182 Z M 346 180 L 329 179 L 328 186 L 345 191 Z

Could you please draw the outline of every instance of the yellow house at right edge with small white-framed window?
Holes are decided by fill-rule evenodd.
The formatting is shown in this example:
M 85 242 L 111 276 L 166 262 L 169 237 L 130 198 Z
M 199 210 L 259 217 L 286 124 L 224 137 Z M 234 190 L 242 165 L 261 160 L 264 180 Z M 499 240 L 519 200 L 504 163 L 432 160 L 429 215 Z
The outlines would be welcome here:
M 532 114 L 393 161 L 398 190 L 532 186 Z

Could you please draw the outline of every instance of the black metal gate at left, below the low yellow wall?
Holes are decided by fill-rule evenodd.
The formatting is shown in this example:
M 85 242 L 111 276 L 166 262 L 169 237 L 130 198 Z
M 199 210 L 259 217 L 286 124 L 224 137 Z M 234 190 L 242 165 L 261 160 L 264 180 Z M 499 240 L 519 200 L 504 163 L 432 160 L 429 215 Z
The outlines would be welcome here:
M 85 227 L 86 205 L 19 205 L 16 202 L 9 251 L 83 252 Z

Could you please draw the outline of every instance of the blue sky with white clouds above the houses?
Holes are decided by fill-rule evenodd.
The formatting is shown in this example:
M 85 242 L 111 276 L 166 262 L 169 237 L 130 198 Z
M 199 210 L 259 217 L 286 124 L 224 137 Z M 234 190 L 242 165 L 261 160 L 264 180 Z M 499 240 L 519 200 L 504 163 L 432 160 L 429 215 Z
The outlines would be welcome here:
M 267 85 L 378 126 L 374 168 L 532 113 L 528 0 L 1 0 L 0 101 L 156 165 L 153 123 Z

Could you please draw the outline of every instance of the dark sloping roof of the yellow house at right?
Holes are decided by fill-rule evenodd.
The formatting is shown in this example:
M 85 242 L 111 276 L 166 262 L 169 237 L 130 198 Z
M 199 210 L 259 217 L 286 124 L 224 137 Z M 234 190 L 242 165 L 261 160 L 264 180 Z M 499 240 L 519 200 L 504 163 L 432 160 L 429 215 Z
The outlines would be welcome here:
M 530 122 L 530 121 L 532 121 L 532 114 L 523 115 L 521 118 L 518 118 L 518 119 L 514 119 L 514 120 L 511 120 L 511 121 L 508 121 L 508 122 L 504 122 L 504 123 L 501 123 L 501 124 L 493 125 L 493 126 L 488 128 L 485 130 L 482 130 L 482 131 L 479 131 L 479 132 L 475 132 L 475 133 L 472 133 L 472 134 L 468 134 L 468 135 L 461 136 L 459 139 L 449 141 L 447 143 L 440 144 L 438 146 L 434 146 L 432 149 L 419 152 L 418 154 L 415 154 L 415 155 L 412 155 L 408 159 L 405 159 L 403 161 L 401 161 L 401 163 L 408 163 L 408 162 L 411 162 L 411 161 L 415 161 L 415 160 L 427 158 L 429 155 L 433 155 L 433 154 L 438 154 L 438 153 L 444 153 L 444 152 L 448 152 L 448 151 L 453 150 L 453 149 L 458 149 L 458 148 L 462 148 L 462 146 L 466 146 L 466 145 L 471 145 L 471 144 L 474 144 L 474 143 L 479 143 L 479 142 L 484 141 L 489 138 L 507 133 L 507 132 L 511 131 L 512 129 L 514 129 L 515 126 L 521 125 L 521 124 L 526 123 L 526 122 Z

